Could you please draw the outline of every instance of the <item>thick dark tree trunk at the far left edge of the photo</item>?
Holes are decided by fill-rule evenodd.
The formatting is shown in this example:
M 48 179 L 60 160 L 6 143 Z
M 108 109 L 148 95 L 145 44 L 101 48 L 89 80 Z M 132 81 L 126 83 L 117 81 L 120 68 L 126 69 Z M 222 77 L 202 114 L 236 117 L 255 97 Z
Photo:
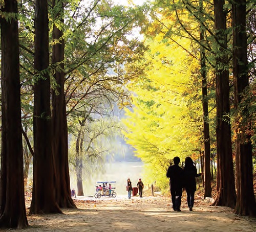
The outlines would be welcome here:
M 2 152 L 0 227 L 25 228 L 22 118 L 20 109 L 17 1 L 5 0 L 1 25 Z M 15 15 L 14 15 L 15 14 Z

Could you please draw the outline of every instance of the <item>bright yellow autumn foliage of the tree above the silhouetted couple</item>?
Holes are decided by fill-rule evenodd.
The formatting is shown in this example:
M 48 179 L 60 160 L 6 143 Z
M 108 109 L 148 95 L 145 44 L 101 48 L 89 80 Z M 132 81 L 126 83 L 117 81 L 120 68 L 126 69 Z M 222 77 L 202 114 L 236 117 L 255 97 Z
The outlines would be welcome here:
M 188 117 L 189 107 L 201 108 L 201 102 L 189 103 L 187 97 L 193 89 L 191 69 L 199 70 L 199 64 L 187 52 L 189 39 L 177 37 L 174 42 L 158 34 L 146 45 L 145 60 L 150 65 L 145 76 L 129 85 L 133 108 L 126 109 L 124 134 L 145 164 L 144 179 L 165 189 L 166 169 L 173 157 L 184 160 L 193 149 L 201 149 L 200 129 L 191 128 Z

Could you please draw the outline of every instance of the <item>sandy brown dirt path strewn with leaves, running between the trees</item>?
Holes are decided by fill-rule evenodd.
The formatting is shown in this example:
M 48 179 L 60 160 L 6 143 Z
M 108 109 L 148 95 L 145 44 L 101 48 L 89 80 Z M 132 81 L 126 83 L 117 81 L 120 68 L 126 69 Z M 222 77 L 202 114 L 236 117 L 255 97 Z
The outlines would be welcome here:
M 92 198 L 76 204 L 77 210 L 64 210 L 63 215 L 28 216 L 30 227 L 21 231 L 256 231 L 256 219 L 236 216 L 226 207 L 208 206 L 206 200 L 197 200 L 193 212 L 185 203 L 181 212 L 174 212 L 169 198 L 160 196 Z

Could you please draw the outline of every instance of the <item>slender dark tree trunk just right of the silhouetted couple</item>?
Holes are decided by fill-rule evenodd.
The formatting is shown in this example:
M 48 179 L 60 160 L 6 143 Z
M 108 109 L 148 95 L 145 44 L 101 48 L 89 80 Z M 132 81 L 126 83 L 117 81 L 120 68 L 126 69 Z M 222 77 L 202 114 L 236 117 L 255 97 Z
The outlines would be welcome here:
M 203 8 L 202 0 L 199 2 L 200 9 Z M 200 25 L 200 41 L 203 43 L 204 29 Z M 203 133 L 204 133 L 204 198 L 211 197 L 211 175 L 210 175 L 210 130 L 209 130 L 209 118 L 208 118 L 208 89 L 207 89 L 207 77 L 206 77 L 206 63 L 205 63 L 205 51 L 200 47 L 200 66 L 202 76 L 202 101 L 203 101 Z

